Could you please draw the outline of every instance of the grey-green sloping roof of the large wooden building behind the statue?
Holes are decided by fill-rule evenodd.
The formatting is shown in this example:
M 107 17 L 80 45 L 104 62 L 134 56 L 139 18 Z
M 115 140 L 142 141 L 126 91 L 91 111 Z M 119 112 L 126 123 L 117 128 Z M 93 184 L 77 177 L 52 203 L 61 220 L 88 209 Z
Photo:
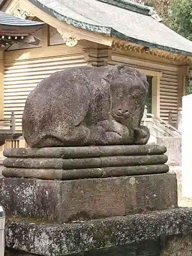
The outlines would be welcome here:
M 150 7 L 128 0 L 29 0 L 75 27 L 135 44 L 192 56 L 192 42 L 151 16 Z

